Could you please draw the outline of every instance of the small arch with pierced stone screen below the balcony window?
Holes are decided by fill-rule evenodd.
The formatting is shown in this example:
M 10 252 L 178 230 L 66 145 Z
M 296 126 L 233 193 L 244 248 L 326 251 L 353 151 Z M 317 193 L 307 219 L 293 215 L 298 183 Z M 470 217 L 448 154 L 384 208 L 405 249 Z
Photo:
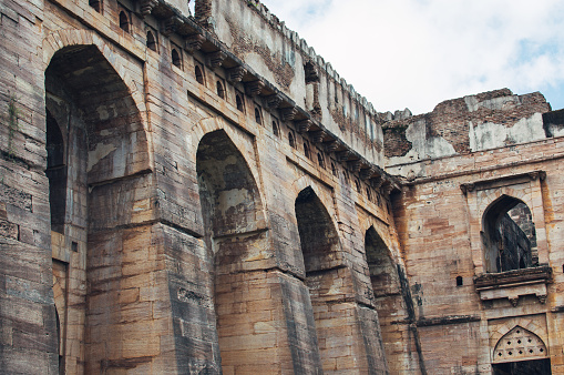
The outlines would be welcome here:
M 500 338 L 492 362 L 494 374 L 551 374 L 546 344 L 519 325 Z

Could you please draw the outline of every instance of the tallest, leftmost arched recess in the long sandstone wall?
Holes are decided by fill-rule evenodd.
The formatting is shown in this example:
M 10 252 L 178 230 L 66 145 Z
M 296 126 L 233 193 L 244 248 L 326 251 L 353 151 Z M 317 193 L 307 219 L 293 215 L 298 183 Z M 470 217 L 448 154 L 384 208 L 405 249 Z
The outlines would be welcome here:
M 148 140 L 131 90 L 98 45 L 64 47 L 49 61 L 53 275 L 55 285 L 69 285 L 65 305 L 58 305 L 62 371 L 100 373 L 110 357 L 135 356 L 116 349 L 127 331 L 116 296 L 131 251 L 116 239 L 135 214 L 131 193 L 150 170 Z

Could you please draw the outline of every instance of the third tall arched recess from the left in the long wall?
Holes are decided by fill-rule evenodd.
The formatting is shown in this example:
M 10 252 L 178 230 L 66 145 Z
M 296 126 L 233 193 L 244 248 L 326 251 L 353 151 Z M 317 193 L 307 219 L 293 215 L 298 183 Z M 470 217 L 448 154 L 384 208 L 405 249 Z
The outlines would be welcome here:
M 337 369 L 337 358 L 352 355 L 360 338 L 352 277 L 332 219 L 311 186 L 299 192 L 295 210 L 321 362 L 324 369 Z

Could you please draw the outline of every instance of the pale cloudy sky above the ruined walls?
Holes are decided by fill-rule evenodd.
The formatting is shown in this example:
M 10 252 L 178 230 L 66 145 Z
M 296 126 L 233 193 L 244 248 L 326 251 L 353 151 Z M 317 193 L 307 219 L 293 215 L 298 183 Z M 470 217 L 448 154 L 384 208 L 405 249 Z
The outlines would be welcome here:
M 563 0 L 262 0 L 378 112 L 507 88 L 564 108 Z

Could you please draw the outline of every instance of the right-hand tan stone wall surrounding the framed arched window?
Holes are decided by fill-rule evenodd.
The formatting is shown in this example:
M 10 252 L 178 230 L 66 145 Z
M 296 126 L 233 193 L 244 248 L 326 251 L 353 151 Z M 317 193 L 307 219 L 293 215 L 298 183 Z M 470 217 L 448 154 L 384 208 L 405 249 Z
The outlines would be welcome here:
M 558 193 L 564 183 L 563 155 L 563 139 L 553 138 L 422 161 L 421 170 L 428 178 L 410 182 L 401 199 L 394 201 L 396 224 L 417 312 L 416 325 L 424 363 L 432 373 L 490 373 L 493 349 L 503 335 L 496 336 L 495 332 L 502 325 L 505 333 L 529 322 L 534 322 L 534 333 L 550 343 L 553 373 L 562 372 L 562 338 L 557 332 L 564 324 L 561 307 L 564 298 L 558 292 L 564 282 L 561 220 L 564 200 Z M 500 178 L 526 175 L 535 170 L 545 171 L 546 179 L 504 186 L 511 181 Z M 502 182 L 490 190 L 474 190 L 466 196 L 461 190 L 463 183 L 496 178 Z M 527 190 L 529 184 L 539 186 L 535 193 Z M 544 302 L 534 294 L 522 295 L 514 304 L 506 297 L 481 301 L 476 291 L 474 278 L 482 254 L 473 254 L 471 247 L 480 247 L 481 243 L 480 234 L 474 239 L 470 232 L 473 227 L 480 232 L 481 217 L 472 214 L 475 204 L 469 196 L 484 199 L 490 194 L 494 200 L 502 190 L 512 196 L 522 190 L 525 197 L 530 196 L 527 202 L 537 202 L 531 204 L 537 242 L 541 247 L 545 230 L 544 249 L 548 253 L 540 263 L 547 262 L 553 277 L 546 284 Z

